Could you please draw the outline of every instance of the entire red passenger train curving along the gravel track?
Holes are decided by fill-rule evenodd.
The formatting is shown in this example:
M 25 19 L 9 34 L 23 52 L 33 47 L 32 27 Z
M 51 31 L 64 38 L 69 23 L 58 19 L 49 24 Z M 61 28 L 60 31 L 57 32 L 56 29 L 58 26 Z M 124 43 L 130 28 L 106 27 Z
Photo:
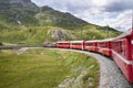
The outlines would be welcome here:
M 98 52 L 110 56 L 124 76 L 133 82 L 133 30 L 115 38 L 57 42 L 57 47 Z

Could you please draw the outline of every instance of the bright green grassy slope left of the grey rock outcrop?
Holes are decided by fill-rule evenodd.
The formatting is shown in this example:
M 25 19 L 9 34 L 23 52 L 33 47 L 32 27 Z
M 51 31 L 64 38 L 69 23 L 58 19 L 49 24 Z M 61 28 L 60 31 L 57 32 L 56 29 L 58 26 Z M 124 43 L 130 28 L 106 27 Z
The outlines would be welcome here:
M 47 38 L 48 26 L 19 26 L 18 30 L 3 30 L 0 32 L 0 42 L 27 45 L 40 45 Z

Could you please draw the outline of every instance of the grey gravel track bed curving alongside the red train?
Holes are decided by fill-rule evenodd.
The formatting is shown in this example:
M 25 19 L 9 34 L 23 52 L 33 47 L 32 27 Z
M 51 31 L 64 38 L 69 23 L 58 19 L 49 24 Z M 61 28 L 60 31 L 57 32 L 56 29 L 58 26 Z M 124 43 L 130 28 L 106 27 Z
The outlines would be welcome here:
M 100 63 L 100 87 L 99 88 L 133 88 L 119 69 L 117 65 L 112 58 L 105 57 L 104 55 L 75 50 L 65 50 L 79 53 L 84 53 L 86 55 L 93 56 Z

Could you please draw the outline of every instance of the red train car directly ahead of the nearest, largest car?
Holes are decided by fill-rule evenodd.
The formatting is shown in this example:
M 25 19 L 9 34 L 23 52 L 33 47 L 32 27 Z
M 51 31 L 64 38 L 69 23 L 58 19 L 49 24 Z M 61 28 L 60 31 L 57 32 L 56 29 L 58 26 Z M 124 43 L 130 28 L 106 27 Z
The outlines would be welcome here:
M 98 52 L 103 54 L 103 55 L 106 55 L 106 56 L 110 56 L 112 55 L 112 38 L 109 38 L 109 40 L 100 40 L 98 41 Z

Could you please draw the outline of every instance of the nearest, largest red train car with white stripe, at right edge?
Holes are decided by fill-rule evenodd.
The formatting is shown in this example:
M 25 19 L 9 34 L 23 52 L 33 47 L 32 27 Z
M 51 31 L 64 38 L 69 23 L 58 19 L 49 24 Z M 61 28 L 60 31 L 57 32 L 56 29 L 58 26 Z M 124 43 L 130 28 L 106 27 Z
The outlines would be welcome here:
M 112 58 L 130 82 L 133 82 L 133 31 L 112 41 Z

